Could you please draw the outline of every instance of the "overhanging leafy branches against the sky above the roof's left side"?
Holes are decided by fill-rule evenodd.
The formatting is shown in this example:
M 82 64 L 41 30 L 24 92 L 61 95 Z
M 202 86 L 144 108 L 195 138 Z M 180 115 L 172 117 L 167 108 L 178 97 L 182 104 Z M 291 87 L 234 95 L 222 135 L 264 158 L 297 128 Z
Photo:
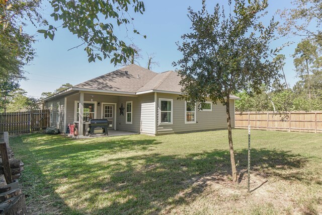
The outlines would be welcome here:
M 144 4 L 139 0 L 52 0 L 54 12 L 50 15 L 55 21 L 62 22 L 62 28 L 67 28 L 75 34 L 85 46 L 89 62 L 95 59 L 111 58 L 111 63 L 126 62 L 136 52 L 115 34 L 115 25 L 133 24 L 129 12 L 143 14 Z M 114 24 L 115 23 L 115 24 Z M 58 28 L 49 25 L 47 30 L 38 30 L 44 37 L 53 40 Z M 127 31 L 127 27 L 126 27 Z M 133 32 L 140 34 L 133 26 Z M 143 35 L 145 38 L 146 36 Z M 77 46 L 78 47 L 78 46 Z

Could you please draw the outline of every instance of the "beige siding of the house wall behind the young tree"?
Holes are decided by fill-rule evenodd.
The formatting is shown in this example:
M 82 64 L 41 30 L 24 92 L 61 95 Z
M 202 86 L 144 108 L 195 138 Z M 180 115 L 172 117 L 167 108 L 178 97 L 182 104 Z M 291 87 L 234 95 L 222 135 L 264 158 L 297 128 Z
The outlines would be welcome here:
M 188 132 L 197 130 L 210 130 L 227 128 L 226 107 L 220 102 L 212 104 L 212 111 L 196 112 L 196 123 L 185 124 L 185 101 L 178 100 L 178 95 L 157 93 L 157 106 L 159 98 L 173 99 L 173 124 L 157 123 L 157 134 Z M 158 108 L 157 108 L 158 109 Z M 157 119 L 159 111 L 157 111 Z M 230 100 L 230 117 L 234 127 L 234 100 Z

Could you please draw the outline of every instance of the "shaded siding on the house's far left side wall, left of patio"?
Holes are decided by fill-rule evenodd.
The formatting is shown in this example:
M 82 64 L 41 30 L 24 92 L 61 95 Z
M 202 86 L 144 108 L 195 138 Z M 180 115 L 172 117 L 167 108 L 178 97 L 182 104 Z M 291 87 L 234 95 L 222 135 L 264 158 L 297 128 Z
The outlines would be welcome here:
M 59 102 L 60 105 L 60 109 L 59 109 L 59 123 L 57 124 L 57 119 L 56 119 L 56 106 L 57 106 L 57 102 Z M 56 126 L 60 132 L 65 132 L 65 128 L 64 128 L 64 97 L 61 98 L 56 98 L 56 99 L 52 99 L 49 101 L 45 102 L 45 109 L 49 109 L 50 108 L 50 104 L 52 103 L 52 121 L 49 122 L 50 126 Z

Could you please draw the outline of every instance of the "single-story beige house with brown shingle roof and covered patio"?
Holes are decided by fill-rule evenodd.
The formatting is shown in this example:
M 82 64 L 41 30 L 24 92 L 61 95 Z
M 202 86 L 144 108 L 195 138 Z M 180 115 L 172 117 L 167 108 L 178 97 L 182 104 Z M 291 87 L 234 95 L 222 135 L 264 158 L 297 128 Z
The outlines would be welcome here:
M 203 110 L 197 104 L 178 100 L 182 86 L 175 71 L 154 73 L 132 64 L 75 85 L 43 99 L 50 109 L 50 125 L 66 132 L 68 123 L 107 118 L 110 129 L 146 134 L 166 134 L 227 127 L 225 106 L 208 101 Z M 234 126 L 234 100 L 230 116 Z M 123 110 L 123 111 L 122 111 Z

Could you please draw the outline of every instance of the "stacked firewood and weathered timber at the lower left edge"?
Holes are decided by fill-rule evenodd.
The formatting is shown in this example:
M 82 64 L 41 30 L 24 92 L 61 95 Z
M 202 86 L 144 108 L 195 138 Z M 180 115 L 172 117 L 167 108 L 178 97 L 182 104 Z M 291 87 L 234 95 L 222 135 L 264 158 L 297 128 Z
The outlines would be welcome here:
M 24 163 L 15 159 L 9 147 L 8 132 L 4 139 L 0 141 L 0 214 L 24 215 L 27 214 L 25 195 L 18 183 Z

